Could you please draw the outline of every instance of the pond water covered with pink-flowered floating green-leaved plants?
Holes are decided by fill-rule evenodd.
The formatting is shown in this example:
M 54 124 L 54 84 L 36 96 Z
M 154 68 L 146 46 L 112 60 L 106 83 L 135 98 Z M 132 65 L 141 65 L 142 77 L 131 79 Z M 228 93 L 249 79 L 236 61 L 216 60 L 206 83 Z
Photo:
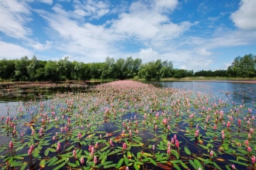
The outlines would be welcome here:
M 254 169 L 251 158 L 256 154 L 256 141 L 251 129 L 255 130 L 256 84 L 150 84 L 157 88 L 136 90 L 136 85 L 134 90 L 127 90 L 128 87 L 114 84 L 110 89 L 93 89 L 96 84 L 92 83 L 52 84 L 40 88 L 38 85 L 2 85 L 0 117 L 4 116 L 4 120 L 0 131 L 0 167 L 39 169 L 41 164 L 44 169 L 232 169 L 231 165 L 235 165 L 237 169 Z M 15 134 L 12 127 L 5 125 L 5 117 L 12 117 Z M 48 124 L 47 117 L 50 117 Z M 163 123 L 164 119 L 168 120 L 170 129 Z M 230 128 L 227 128 L 228 122 Z M 40 128 L 44 134 L 38 133 Z M 31 135 L 32 130 L 36 131 L 35 136 Z M 195 137 L 197 130 L 199 135 Z M 81 139 L 78 138 L 80 131 Z M 178 138 L 178 147 L 168 142 L 174 135 Z M 248 145 L 244 144 L 246 140 Z M 9 141 L 14 142 L 16 151 L 6 145 Z M 57 141 L 61 141 L 60 152 L 56 151 Z M 128 147 L 125 150 L 123 143 Z M 26 154 L 31 145 L 36 148 L 32 158 Z M 89 145 L 95 147 L 96 163 Z M 248 147 L 251 151 L 247 151 Z M 72 155 L 73 149 L 77 151 L 77 158 Z M 210 151 L 214 154 L 210 155 Z M 79 162 L 81 157 L 85 158 L 85 164 Z

